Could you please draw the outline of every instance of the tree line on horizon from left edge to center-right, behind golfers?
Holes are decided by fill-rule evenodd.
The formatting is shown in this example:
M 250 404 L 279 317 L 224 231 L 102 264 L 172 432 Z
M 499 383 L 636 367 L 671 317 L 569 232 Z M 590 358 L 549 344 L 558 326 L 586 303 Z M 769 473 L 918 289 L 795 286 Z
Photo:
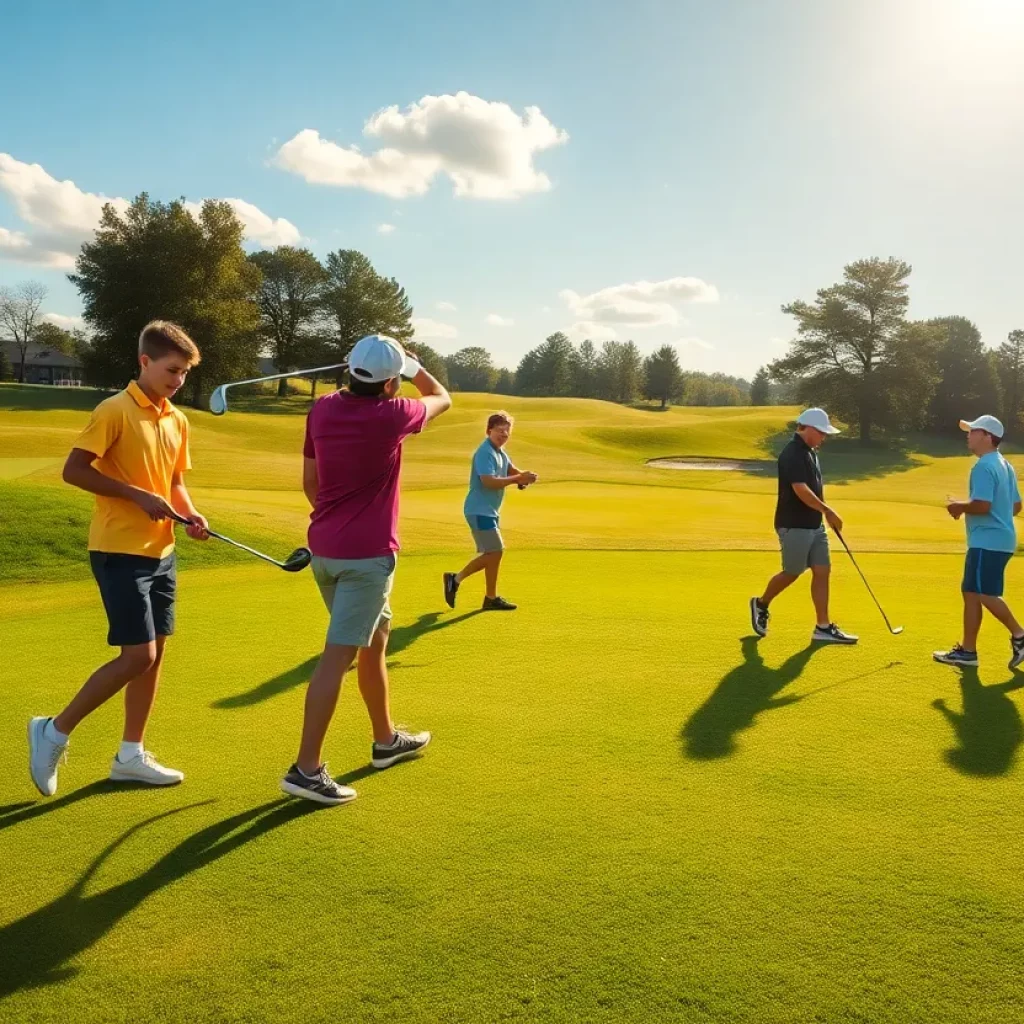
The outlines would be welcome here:
M 143 194 L 124 213 L 105 207 L 69 274 L 82 298 L 88 336 L 41 319 L 41 285 L 0 291 L 0 330 L 20 356 L 17 368 L 0 361 L 0 378 L 13 372 L 24 381 L 26 351 L 35 343 L 78 355 L 90 383 L 120 387 L 135 372 L 138 332 L 155 312 L 182 324 L 201 342 L 203 361 L 183 395 L 195 404 L 216 383 L 255 376 L 260 356 L 287 372 L 340 362 L 366 334 L 413 339 L 404 289 L 378 273 L 364 254 L 339 249 L 321 260 L 292 246 L 247 254 L 242 240 L 242 224 L 225 203 L 206 202 L 197 214 L 183 202 L 155 202 Z M 447 356 L 419 341 L 412 347 L 454 390 L 647 398 L 663 406 L 750 401 L 748 381 L 686 372 L 669 345 L 644 357 L 633 341 L 598 348 L 556 333 L 514 370 L 497 366 L 479 346 Z M 285 393 L 287 381 L 279 387 Z

